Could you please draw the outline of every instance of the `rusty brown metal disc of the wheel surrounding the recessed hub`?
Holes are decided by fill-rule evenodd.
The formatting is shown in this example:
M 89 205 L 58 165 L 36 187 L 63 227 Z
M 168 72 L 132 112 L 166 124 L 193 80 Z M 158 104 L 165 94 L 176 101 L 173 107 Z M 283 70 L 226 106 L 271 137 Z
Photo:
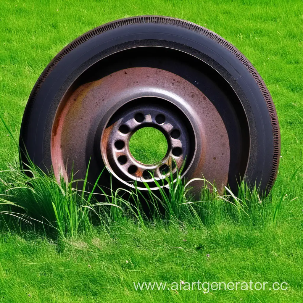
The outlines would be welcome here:
M 108 142 L 115 128 L 112 125 L 106 129 L 112 114 L 127 102 L 142 97 L 161 98 L 171 104 L 172 113 L 174 107 L 184 113 L 191 122 L 194 135 L 188 141 L 195 142 L 195 150 L 183 176 L 204 177 L 215 182 L 221 191 L 227 183 L 230 152 L 228 134 L 219 113 L 187 80 L 171 72 L 146 67 L 128 68 L 81 85 L 67 100 L 62 100 L 52 129 L 51 155 L 56 178 L 60 174 L 67 178 L 72 166 L 79 175 L 85 176 L 87 158 L 100 125 L 101 142 Z M 109 163 L 107 152 L 107 147 L 101 145 L 100 156 L 106 164 Z M 116 178 L 132 186 L 110 165 L 107 167 Z M 140 173 L 137 177 L 140 178 Z

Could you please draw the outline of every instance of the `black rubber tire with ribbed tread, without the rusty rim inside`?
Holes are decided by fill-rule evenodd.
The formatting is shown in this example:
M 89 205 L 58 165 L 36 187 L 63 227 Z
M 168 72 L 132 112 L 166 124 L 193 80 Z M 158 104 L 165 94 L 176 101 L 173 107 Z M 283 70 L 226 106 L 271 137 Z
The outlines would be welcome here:
M 161 46 L 190 54 L 225 79 L 228 89 L 241 102 L 231 111 L 238 115 L 238 124 L 247 120 L 243 128 L 249 130 L 248 138 L 242 135 L 241 147 L 231 151 L 231 159 L 232 153 L 238 153 L 239 159 L 244 157 L 241 153 L 247 153 L 247 159 L 243 160 L 247 162 L 245 171 L 241 171 L 240 160 L 235 156 L 228 182 L 235 188 L 239 173 L 241 178 L 245 174 L 251 185 L 269 191 L 278 171 L 280 132 L 275 106 L 263 80 L 248 59 L 225 39 L 199 25 L 170 17 L 140 16 L 113 21 L 85 33 L 58 53 L 42 72 L 26 105 L 19 142 L 21 161 L 26 161 L 22 152 L 26 149 L 36 165 L 44 170 L 51 168 L 52 125 L 67 89 L 96 62 L 122 50 L 143 46 Z M 202 90 L 195 81 L 192 83 Z M 220 110 L 218 98 L 208 98 L 222 116 L 227 130 L 231 128 L 228 125 L 234 122 Z M 241 125 L 238 128 L 241 132 Z M 229 133 L 231 146 L 232 137 Z

